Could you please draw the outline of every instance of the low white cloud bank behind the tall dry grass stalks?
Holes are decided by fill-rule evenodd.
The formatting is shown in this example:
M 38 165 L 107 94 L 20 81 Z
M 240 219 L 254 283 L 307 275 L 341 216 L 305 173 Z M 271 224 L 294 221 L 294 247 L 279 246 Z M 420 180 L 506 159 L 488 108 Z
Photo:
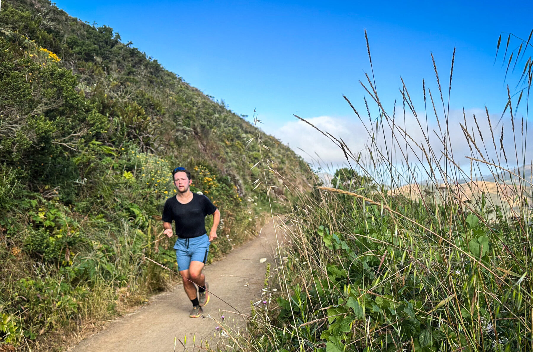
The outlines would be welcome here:
M 478 124 L 474 122 L 473 115 L 475 114 Z M 403 114 L 402 114 L 403 115 Z M 516 164 L 522 164 L 522 151 L 526 152 L 526 164 L 531 162 L 531 153 L 533 148 L 532 143 L 523 142 L 524 146 L 521 147 L 521 133 L 522 133 L 522 121 L 515 120 L 515 135 L 518 143 L 518 162 L 516 161 L 514 138 L 512 131 L 512 124 L 509 117 L 504 117 L 502 122 L 497 125 L 499 120 L 498 115 L 491 115 L 492 134 L 494 134 L 494 143 L 492 141 L 492 135 L 490 132 L 489 123 L 487 121 L 487 115 L 484 109 L 471 109 L 465 111 L 466 128 L 469 131 L 472 138 L 475 139 L 479 150 L 484 158 L 488 161 L 494 161 L 498 164 L 498 158 L 501 163 L 505 163 L 503 153 L 500 151 L 500 134 L 502 125 L 504 126 L 504 139 L 503 146 L 505 148 L 508 165 L 514 166 Z M 461 125 L 465 125 L 465 117 L 462 110 L 450 111 L 448 119 L 448 131 L 449 131 L 449 145 L 453 150 L 454 160 L 456 163 L 461 164 L 465 169 L 470 169 L 470 161 L 464 156 L 472 156 L 471 146 L 465 138 Z M 373 149 L 373 157 L 376 158 L 376 150 L 381 150 L 385 155 L 386 151 L 389 151 L 390 158 L 394 165 L 405 164 L 405 158 L 409 158 L 410 164 L 422 165 L 425 163 L 423 152 L 418 146 L 424 146 L 425 150 L 428 150 L 426 137 L 428 137 L 427 131 L 429 131 L 429 145 L 435 154 L 435 159 L 440 159 L 441 163 L 445 162 L 445 157 L 442 156 L 442 152 L 445 151 L 445 147 L 439 140 L 442 138 L 442 134 L 439 130 L 439 124 L 436 119 L 431 119 L 427 123 L 423 114 L 418 115 L 420 124 L 417 122 L 415 116 L 411 113 L 407 114 L 405 119 L 403 116 L 395 118 L 395 127 L 391 128 L 392 122 L 383 119 L 383 128 L 380 127 L 378 133 L 372 137 L 372 125 L 367 120 L 362 123 L 359 118 L 354 119 L 340 118 L 332 116 L 319 116 L 306 119 L 314 126 L 318 127 L 321 131 L 329 132 L 334 137 L 342 139 L 348 148 L 354 155 L 361 153 L 361 160 L 364 162 L 369 161 L 369 149 Z M 446 133 L 445 121 L 441 117 L 440 126 L 443 129 L 442 133 Z M 374 130 L 376 127 L 375 121 L 373 124 Z M 529 124 L 530 135 L 533 132 L 533 124 Z M 478 130 L 479 128 L 479 130 Z M 525 122 L 523 128 L 525 129 Z M 404 131 L 407 132 L 409 137 L 407 138 L 407 144 L 410 147 L 406 148 L 406 137 Z M 483 142 L 481 141 L 480 133 L 483 136 Z M 525 131 L 524 131 L 525 132 Z M 296 153 L 300 154 L 307 162 L 318 166 L 317 161 L 324 167 L 324 164 L 333 164 L 333 168 L 336 169 L 339 165 L 346 164 L 346 158 L 342 152 L 342 149 L 337 147 L 335 143 L 314 129 L 309 124 L 303 121 L 292 121 L 286 123 L 273 134 L 279 138 L 282 142 L 287 143 Z M 374 138 L 374 146 L 372 140 Z M 412 140 L 411 140 L 412 139 Z M 531 138 L 529 138 L 531 140 Z M 413 142 L 414 141 L 414 142 Z M 494 147 L 496 145 L 496 149 Z M 414 150 L 411 150 L 413 148 Z M 302 150 L 301 150 L 302 149 Z M 477 150 L 472 146 L 474 157 L 480 158 Z M 319 159 L 319 157 L 320 159 Z M 422 159 L 422 163 L 418 161 Z M 529 158 L 529 159 L 528 159 Z M 529 160 L 529 161 L 528 161 Z M 323 162 L 322 162 L 323 161 Z M 353 162 L 352 162 L 353 164 Z M 486 167 L 482 167 L 481 173 L 488 170 Z M 466 171 L 466 170 L 465 170 Z

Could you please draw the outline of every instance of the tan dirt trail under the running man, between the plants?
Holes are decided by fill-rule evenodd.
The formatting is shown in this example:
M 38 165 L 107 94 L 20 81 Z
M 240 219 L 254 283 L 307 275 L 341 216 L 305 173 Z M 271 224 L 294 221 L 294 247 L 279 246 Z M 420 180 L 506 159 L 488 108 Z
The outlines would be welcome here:
M 276 223 L 279 223 L 276 219 Z M 281 241 L 282 231 L 277 227 Z M 250 314 L 250 301 L 261 299 L 266 263 L 273 262 L 276 247 L 276 235 L 272 220 L 261 229 L 261 234 L 240 248 L 233 250 L 226 258 L 204 269 L 207 282 L 213 294 L 204 307 L 204 315 L 217 319 L 222 314 L 229 326 L 244 326 L 238 314 L 222 313 L 221 310 L 239 311 Z M 261 258 L 267 258 L 264 263 Z M 209 318 L 190 318 L 191 303 L 177 285 L 170 292 L 154 296 L 150 302 L 133 313 L 110 322 L 104 330 L 82 340 L 71 347 L 75 352 L 99 351 L 173 351 L 174 337 L 183 341 L 187 335 L 187 349 L 193 348 L 193 335 L 196 334 L 196 346 L 200 340 L 213 346 L 219 340 L 215 330 L 217 323 Z M 235 308 L 235 309 L 234 309 Z M 220 342 L 219 342 L 220 343 Z M 176 342 L 177 350 L 182 350 L 180 342 Z

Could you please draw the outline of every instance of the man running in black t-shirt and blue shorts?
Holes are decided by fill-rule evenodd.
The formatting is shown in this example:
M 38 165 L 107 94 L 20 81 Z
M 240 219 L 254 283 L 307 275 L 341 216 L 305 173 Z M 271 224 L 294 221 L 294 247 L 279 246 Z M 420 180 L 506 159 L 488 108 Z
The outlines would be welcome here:
M 184 167 L 176 167 L 172 172 L 177 194 L 165 202 L 163 209 L 164 234 L 171 238 L 172 221 L 175 223 L 177 235 L 176 250 L 177 267 L 183 278 L 183 289 L 192 302 L 191 318 L 202 314 L 201 307 L 209 302 L 209 285 L 201 270 L 204 268 L 209 253 L 209 244 L 216 238 L 219 226 L 220 211 L 205 195 L 192 193 L 191 173 Z M 205 217 L 213 214 L 213 227 L 209 236 L 205 230 Z M 196 286 L 198 286 L 198 295 Z

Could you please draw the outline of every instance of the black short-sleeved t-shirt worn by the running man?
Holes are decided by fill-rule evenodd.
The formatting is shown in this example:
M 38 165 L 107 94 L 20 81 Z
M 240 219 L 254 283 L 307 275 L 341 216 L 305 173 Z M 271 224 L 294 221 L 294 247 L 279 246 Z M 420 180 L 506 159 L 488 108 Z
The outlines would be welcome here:
M 213 214 L 216 206 L 204 195 L 192 194 L 192 199 L 187 204 L 181 204 L 176 196 L 170 197 L 165 202 L 163 209 L 164 222 L 175 223 L 175 234 L 180 238 L 192 238 L 201 236 L 205 230 L 206 215 Z

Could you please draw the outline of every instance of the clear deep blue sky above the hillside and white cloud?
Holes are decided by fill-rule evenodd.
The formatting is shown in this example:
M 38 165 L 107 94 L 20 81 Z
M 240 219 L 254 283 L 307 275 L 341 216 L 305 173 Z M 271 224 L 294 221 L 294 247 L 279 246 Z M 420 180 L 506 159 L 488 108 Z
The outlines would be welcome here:
M 422 111 L 422 78 L 438 95 L 430 53 L 447 87 L 455 46 L 450 108 L 473 111 L 487 105 L 491 113 L 501 114 L 505 85 L 513 88 L 516 77 L 504 82 L 501 57 L 494 64 L 498 36 L 527 37 L 533 27 L 524 17 L 533 10 L 528 1 L 57 0 L 56 5 L 114 28 L 124 42 L 132 41 L 237 114 L 251 116 L 257 109 L 263 130 L 293 147 L 294 138 L 282 132 L 294 125 L 293 114 L 352 123 L 342 94 L 365 110 L 358 83 L 370 70 L 365 28 L 386 108 L 392 110 L 394 99 L 400 100 L 402 76 Z

